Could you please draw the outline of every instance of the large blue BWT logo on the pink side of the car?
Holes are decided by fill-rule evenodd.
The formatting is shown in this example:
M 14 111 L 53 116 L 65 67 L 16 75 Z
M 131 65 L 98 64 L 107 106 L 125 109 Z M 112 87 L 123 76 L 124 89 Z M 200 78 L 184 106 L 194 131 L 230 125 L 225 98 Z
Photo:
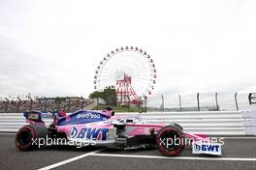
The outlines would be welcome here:
M 71 128 L 70 138 L 107 140 L 109 128 Z

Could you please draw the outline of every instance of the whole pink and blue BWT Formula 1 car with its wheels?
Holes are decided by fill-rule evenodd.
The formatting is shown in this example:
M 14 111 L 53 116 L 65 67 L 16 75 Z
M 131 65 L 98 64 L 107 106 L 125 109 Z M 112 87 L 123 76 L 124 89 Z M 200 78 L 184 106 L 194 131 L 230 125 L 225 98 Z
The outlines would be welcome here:
M 211 142 L 206 135 L 186 133 L 175 123 L 147 124 L 140 116 L 114 116 L 112 108 L 71 114 L 30 111 L 24 117 L 29 125 L 16 132 L 20 151 L 36 150 L 51 142 L 125 150 L 157 147 L 165 156 L 176 156 L 186 145 L 192 145 L 193 154 L 221 155 L 221 144 Z M 48 127 L 44 118 L 53 118 Z

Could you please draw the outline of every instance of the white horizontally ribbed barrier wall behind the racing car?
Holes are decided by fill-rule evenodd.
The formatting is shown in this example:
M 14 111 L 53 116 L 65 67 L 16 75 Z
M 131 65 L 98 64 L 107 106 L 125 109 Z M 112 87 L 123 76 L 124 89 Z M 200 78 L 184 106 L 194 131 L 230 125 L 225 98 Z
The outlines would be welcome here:
M 141 116 L 147 123 L 177 123 L 190 133 L 208 135 L 256 135 L 256 110 L 116 113 Z M 52 119 L 44 119 L 50 124 Z M 0 113 L 0 132 L 16 132 L 26 125 L 22 113 Z

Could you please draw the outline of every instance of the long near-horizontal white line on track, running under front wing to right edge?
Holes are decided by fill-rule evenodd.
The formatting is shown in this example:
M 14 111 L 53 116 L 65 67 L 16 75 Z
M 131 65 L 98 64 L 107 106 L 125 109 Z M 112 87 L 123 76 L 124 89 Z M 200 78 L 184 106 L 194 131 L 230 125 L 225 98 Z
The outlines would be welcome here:
M 222 161 L 256 161 L 250 157 L 192 157 L 192 156 L 140 156 L 140 155 L 112 155 L 112 154 L 91 154 L 89 156 L 112 156 L 112 157 L 132 157 L 132 158 L 162 158 L 162 159 L 187 159 L 187 160 L 222 160 Z

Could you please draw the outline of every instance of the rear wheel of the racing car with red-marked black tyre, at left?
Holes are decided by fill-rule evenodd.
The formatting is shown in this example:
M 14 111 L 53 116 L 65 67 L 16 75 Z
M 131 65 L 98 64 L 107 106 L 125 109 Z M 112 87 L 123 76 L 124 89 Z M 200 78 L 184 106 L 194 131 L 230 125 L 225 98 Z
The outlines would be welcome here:
M 39 149 L 39 141 L 46 142 L 48 128 L 43 125 L 27 125 L 16 132 L 16 148 L 20 151 Z

